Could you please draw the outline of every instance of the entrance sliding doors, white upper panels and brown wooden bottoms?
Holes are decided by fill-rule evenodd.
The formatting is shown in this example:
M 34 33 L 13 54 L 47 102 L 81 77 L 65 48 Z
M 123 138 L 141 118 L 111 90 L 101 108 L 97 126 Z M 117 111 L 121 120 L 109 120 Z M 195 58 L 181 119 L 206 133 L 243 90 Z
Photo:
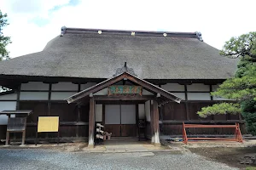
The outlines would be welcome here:
M 136 105 L 105 105 L 104 124 L 113 137 L 136 137 Z

